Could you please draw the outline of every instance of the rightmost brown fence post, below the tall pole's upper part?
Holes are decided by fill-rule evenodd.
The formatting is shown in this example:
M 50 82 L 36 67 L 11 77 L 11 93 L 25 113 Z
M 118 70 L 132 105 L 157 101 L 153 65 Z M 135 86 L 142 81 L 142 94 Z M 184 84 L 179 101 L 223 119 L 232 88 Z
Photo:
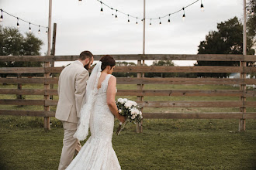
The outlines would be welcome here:
M 240 66 L 243 67 L 243 73 L 240 73 L 240 79 L 244 80 L 246 79 L 246 73 L 245 73 L 245 67 L 247 65 L 246 61 L 240 61 Z M 238 131 L 245 131 L 245 119 L 244 114 L 246 113 L 246 107 L 244 106 L 244 102 L 246 101 L 245 92 L 246 92 L 246 83 L 240 84 L 240 90 L 243 91 L 243 95 L 240 97 L 240 100 L 243 102 L 243 106 L 240 107 L 240 112 L 243 113 L 243 118 L 239 120 L 239 128 Z

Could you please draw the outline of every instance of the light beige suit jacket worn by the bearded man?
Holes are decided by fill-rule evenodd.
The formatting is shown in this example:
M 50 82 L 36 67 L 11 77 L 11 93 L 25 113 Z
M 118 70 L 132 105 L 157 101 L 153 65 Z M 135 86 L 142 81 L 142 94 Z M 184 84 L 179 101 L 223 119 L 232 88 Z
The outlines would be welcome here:
M 62 70 L 57 89 L 59 95 L 55 114 L 57 119 L 78 123 L 88 77 L 88 70 L 78 60 Z

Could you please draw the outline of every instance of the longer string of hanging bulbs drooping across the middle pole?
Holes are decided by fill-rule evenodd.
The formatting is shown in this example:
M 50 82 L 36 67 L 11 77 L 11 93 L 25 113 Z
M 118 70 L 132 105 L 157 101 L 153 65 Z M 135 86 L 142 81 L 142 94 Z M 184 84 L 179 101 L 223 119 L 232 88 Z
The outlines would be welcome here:
M 127 14 L 127 13 L 125 13 L 125 12 L 121 12 L 121 11 L 119 11 L 118 9 L 116 9 L 116 8 L 112 8 L 112 7 L 110 7 L 109 5 L 107 5 L 106 3 L 104 3 L 104 2 L 102 2 L 101 0 L 96 0 L 96 1 L 98 1 L 98 2 L 100 2 L 101 3 L 101 5 L 105 5 L 106 7 L 108 7 L 108 8 L 110 8 L 111 10 L 112 10 L 112 15 L 114 15 L 114 11 L 116 11 L 116 15 L 115 15 L 115 18 L 117 19 L 117 12 L 119 12 L 119 13 L 121 13 L 121 14 L 123 14 L 123 15 L 127 15 L 128 16 L 128 23 L 130 23 L 130 18 L 133 18 L 133 19 L 136 19 L 136 24 L 138 24 L 138 22 L 137 22 L 137 20 L 138 19 L 141 19 L 141 18 L 139 18 L 139 17 L 137 17 L 137 16 L 133 16 L 133 15 L 130 15 L 130 14 Z M 81 2 L 81 0 L 78 0 L 78 2 Z M 159 24 L 161 24 L 161 19 L 163 19 L 163 18 L 165 18 L 165 17 L 168 17 L 168 24 L 170 24 L 170 22 L 171 22 L 171 15 L 174 15 L 175 13 L 178 13 L 178 12 L 182 12 L 183 11 L 183 15 L 182 15 L 182 19 L 183 19 L 183 21 L 185 20 L 185 8 L 188 8 L 190 5 L 193 5 L 193 4 L 195 4 L 196 2 L 199 2 L 199 0 L 196 0 L 195 2 L 192 2 L 191 4 L 189 4 L 189 5 L 187 5 L 187 6 L 185 6 L 185 7 L 183 7 L 183 8 L 181 8 L 181 9 L 179 9 L 178 11 L 176 11 L 176 12 L 172 12 L 172 13 L 169 13 L 169 14 L 167 14 L 167 15 L 163 15 L 163 16 L 160 16 L 160 17 L 157 17 L 157 18 L 145 18 L 145 19 L 141 19 L 141 21 L 143 22 L 144 20 L 150 20 L 150 25 L 152 25 L 152 19 L 153 20 L 155 20 L 155 19 L 159 19 Z M 202 5 L 202 0 L 201 0 L 201 5 L 200 5 L 200 8 L 201 8 L 201 11 L 203 12 L 204 11 L 204 6 Z M 101 8 L 101 12 L 103 12 L 103 8 Z

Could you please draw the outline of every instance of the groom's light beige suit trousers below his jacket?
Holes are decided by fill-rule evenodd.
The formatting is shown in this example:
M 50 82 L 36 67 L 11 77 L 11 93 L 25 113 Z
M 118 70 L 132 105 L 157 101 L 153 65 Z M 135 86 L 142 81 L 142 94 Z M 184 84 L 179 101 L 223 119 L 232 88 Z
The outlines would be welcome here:
M 81 144 L 77 138 L 73 135 L 77 131 L 77 123 L 71 123 L 67 121 L 62 121 L 64 128 L 64 138 L 63 138 L 63 148 L 61 152 L 61 160 L 59 164 L 59 170 L 64 170 L 72 162 L 74 158 L 74 152 L 80 151 Z

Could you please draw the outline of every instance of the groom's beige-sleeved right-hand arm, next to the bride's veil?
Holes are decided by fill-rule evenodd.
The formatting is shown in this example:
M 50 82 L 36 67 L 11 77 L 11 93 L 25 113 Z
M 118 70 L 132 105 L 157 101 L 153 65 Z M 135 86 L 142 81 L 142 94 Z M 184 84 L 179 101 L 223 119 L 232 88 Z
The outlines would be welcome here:
M 85 94 L 86 81 L 89 78 L 89 73 L 87 70 L 84 70 L 80 73 L 75 79 L 75 104 L 77 110 L 77 117 L 80 117 L 81 103 Z

